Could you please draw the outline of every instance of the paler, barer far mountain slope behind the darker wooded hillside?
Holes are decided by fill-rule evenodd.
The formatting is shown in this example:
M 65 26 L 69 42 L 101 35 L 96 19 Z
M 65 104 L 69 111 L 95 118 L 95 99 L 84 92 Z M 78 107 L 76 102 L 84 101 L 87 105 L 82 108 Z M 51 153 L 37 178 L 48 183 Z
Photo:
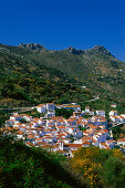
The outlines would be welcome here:
M 28 53 L 24 56 L 66 73 L 95 94 L 111 93 L 117 97 L 125 94 L 125 63 L 115 59 L 102 45 L 90 50 L 69 48 L 63 51 Z

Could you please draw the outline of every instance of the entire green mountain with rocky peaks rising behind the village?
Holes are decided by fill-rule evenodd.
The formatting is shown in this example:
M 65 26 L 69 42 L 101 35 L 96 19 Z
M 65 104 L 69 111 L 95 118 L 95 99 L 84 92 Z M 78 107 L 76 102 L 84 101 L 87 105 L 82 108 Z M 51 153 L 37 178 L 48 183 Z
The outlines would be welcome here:
M 28 101 L 84 103 L 97 94 L 103 101 L 123 105 L 125 101 L 125 63 L 102 45 L 51 51 L 33 43 L 0 44 L 0 73 L 1 101 L 9 96 L 9 81 L 13 82 L 13 91 L 21 91 Z M 9 98 L 12 97 L 11 92 Z

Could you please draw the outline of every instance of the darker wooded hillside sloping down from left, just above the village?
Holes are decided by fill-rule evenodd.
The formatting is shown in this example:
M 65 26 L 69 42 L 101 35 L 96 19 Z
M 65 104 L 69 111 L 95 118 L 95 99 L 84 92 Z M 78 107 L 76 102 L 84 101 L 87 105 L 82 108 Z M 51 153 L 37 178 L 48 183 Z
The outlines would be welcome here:
M 18 55 L 19 52 L 27 53 L 19 48 L 1 48 L 0 51 L 1 106 L 35 105 L 52 101 L 69 103 L 77 101 L 80 93 L 83 100 L 91 98 L 90 92 L 81 91 L 73 77 L 40 62 L 24 59 Z

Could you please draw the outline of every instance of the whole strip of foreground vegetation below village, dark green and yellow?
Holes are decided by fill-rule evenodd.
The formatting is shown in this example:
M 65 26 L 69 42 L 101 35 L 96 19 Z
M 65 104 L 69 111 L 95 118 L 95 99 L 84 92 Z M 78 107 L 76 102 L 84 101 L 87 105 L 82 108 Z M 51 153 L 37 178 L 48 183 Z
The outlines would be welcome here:
M 72 159 L 0 137 L 0 187 L 114 188 L 125 187 L 121 150 L 83 147 Z

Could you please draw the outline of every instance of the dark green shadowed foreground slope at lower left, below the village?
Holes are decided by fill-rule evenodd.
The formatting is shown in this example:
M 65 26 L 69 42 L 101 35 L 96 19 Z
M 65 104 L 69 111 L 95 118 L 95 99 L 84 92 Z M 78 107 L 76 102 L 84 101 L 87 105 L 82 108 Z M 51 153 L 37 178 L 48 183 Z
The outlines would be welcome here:
M 0 137 L 0 187 L 86 187 L 66 169 L 66 158 Z

